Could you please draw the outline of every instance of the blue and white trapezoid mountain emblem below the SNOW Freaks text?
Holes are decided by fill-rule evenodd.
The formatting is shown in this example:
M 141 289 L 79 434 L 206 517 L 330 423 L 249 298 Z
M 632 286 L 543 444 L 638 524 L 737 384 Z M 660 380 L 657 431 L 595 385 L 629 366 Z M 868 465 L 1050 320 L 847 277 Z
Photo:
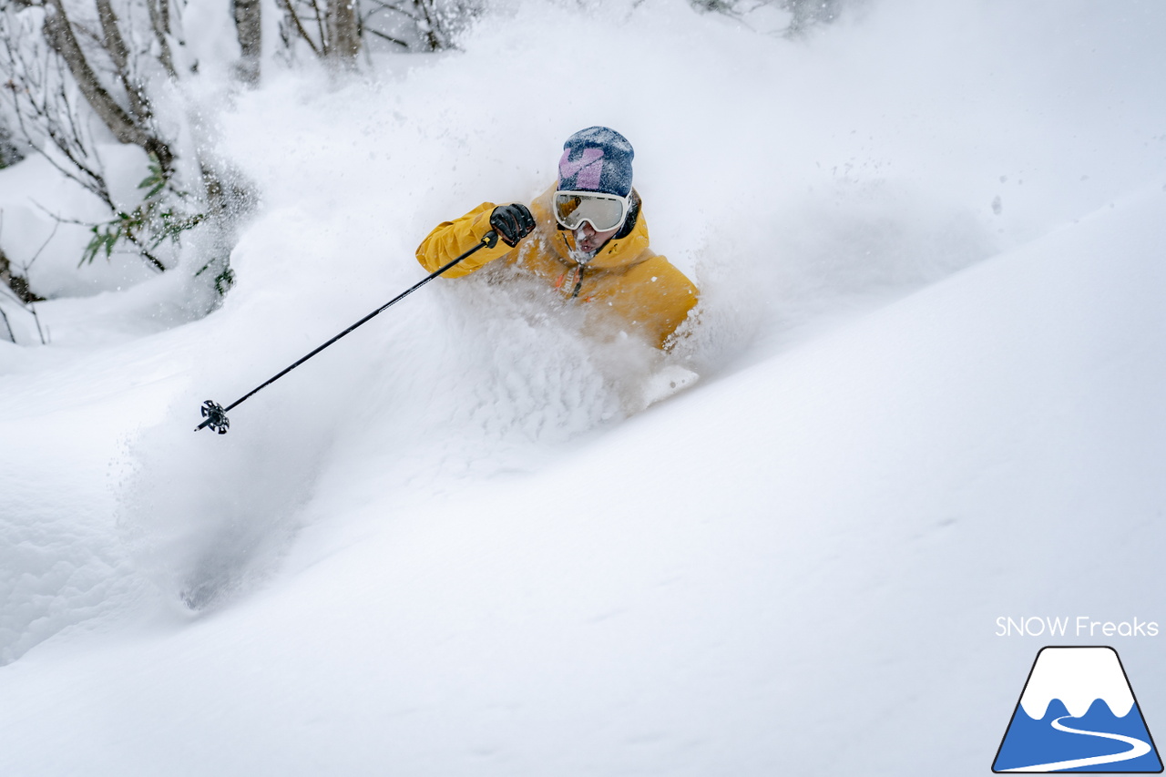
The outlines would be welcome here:
M 992 771 L 1161 772 L 1117 651 L 1042 648 Z

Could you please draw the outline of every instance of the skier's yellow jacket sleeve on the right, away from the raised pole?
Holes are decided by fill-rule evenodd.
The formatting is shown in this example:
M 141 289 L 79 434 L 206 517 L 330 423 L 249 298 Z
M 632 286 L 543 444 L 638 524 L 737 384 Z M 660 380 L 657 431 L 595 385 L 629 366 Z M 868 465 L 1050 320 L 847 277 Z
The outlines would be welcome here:
M 606 301 L 656 348 L 663 348 L 676 327 L 696 306 L 693 281 L 667 259 L 653 256 L 631 267 L 619 290 Z

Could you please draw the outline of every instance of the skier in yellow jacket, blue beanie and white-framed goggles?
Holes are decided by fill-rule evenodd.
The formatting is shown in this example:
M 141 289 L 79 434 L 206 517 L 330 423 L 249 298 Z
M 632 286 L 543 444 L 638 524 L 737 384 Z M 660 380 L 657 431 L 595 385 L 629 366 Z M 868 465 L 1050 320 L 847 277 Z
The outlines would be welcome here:
M 588 304 L 589 322 L 606 320 L 667 349 L 696 304 L 697 290 L 648 247 L 640 197 L 632 188 L 633 155 L 632 145 L 614 130 L 576 132 L 563 144 L 559 180 L 529 208 L 484 202 L 438 224 L 417 246 L 417 261 L 435 272 L 493 229 L 498 245 L 445 275 L 461 278 L 501 260 L 545 279 L 564 299 Z

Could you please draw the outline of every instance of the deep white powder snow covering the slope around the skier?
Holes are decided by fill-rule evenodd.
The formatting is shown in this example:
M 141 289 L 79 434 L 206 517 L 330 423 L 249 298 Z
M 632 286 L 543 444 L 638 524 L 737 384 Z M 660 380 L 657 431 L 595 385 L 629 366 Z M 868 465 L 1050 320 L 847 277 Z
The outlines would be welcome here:
M 997 617 L 1166 623 L 1164 30 L 520 0 L 359 79 L 208 85 L 262 196 L 222 308 L 63 249 L 49 345 L 5 304 L 0 774 L 985 774 L 1044 644 Z M 438 280 L 191 433 L 593 124 L 701 285 L 676 354 Z M 1151 729 L 1164 638 L 1111 638 Z

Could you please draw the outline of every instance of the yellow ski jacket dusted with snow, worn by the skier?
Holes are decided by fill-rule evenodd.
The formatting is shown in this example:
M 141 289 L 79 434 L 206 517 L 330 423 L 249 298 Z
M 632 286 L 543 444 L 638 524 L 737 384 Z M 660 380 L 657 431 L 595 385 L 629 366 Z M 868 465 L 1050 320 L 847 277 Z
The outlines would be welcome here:
M 513 249 L 501 240 L 493 249 L 482 249 L 445 273 L 462 278 L 483 266 L 503 260 L 534 273 L 559 289 L 564 299 L 589 307 L 590 314 L 614 316 L 611 322 L 637 334 L 656 348 L 665 348 L 669 336 L 696 304 L 697 290 L 682 272 L 648 247 L 648 228 L 633 208 L 625 226 L 596 256 L 580 264 L 571 258 L 575 233 L 559 229 L 550 210 L 555 187 L 531 203 L 534 231 Z M 429 272 L 469 251 L 490 231 L 494 203 L 484 202 L 465 216 L 442 222 L 417 246 L 417 261 Z

